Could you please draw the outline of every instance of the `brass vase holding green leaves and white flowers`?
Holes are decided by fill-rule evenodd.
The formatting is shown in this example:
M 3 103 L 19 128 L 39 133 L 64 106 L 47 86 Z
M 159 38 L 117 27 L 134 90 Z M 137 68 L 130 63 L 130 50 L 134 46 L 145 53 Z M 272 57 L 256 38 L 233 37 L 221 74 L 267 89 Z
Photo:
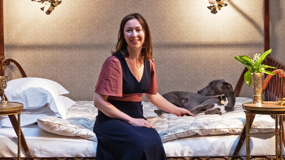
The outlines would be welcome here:
M 263 73 L 251 73 L 254 104 L 262 103 Z

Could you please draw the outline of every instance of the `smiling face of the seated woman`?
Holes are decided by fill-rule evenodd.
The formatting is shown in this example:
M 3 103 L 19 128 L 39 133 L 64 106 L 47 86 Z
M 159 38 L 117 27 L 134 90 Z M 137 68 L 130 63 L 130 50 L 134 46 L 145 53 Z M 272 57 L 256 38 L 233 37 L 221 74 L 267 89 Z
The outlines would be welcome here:
M 124 38 L 128 43 L 128 48 L 141 49 L 145 41 L 145 33 L 137 19 L 128 20 L 124 27 Z

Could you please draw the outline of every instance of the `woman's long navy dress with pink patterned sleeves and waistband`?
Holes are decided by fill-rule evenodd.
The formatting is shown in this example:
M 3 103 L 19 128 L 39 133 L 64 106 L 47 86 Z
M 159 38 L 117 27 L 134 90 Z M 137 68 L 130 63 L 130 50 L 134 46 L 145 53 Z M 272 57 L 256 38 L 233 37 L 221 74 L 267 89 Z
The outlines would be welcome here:
M 122 54 L 114 53 L 102 66 L 95 92 L 109 95 L 107 101 L 127 115 L 145 119 L 142 94 L 157 92 L 153 59 L 144 61 L 144 72 L 138 82 Z M 98 138 L 96 160 L 166 160 L 155 129 L 132 126 L 99 111 L 93 131 Z

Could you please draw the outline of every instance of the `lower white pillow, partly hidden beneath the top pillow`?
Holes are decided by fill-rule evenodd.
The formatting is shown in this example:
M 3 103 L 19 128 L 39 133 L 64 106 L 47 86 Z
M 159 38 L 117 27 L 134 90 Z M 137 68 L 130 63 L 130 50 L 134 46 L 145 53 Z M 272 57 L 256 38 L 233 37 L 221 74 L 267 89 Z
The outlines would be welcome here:
M 53 116 L 53 117 L 66 117 L 67 110 L 75 104 L 74 101 L 65 96 L 58 96 L 55 101 L 58 107 L 58 112 L 53 112 L 50 108 L 49 103 L 46 103 L 41 108 L 24 109 L 21 113 L 21 126 L 27 126 L 37 122 L 37 119 L 42 116 Z M 0 116 L 0 128 L 1 127 L 12 127 L 8 116 Z

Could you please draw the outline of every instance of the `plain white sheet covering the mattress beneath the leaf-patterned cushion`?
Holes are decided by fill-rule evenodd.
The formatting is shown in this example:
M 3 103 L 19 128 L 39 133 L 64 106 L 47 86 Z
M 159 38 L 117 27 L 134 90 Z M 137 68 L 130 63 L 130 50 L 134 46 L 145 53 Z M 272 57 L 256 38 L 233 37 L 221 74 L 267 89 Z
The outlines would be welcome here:
M 60 136 L 40 129 L 36 124 L 22 127 L 35 157 L 95 157 L 97 143 L 74 136 Z M 275 133 L 251 134 L 251 155 L 275 155 Z M 221 134 L 180 138 L 163 143 L 166 155 L 227 156 L 232 155 L 239 134 Z M 0 129 L 0 157 L 17 157 L 17 136 L 13 128 Z M 283 147 L 284 151 L 284 147 Z M 246 144 L 239 155 L 246 155 Z M 21 157 L 26 155 L 21 152 Z

